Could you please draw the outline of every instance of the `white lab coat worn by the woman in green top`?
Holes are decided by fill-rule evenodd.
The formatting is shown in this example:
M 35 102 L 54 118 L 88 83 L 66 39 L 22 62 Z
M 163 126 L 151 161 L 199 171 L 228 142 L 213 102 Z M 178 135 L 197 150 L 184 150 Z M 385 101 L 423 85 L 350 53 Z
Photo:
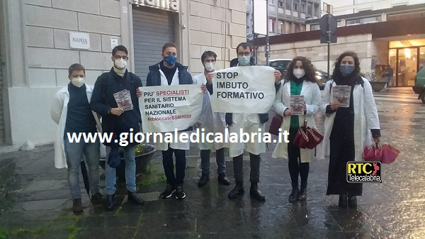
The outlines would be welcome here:
M 283 112 L 285 109 L 290 108 L 290 84 L 292 82 L 283 83 L 282 87 L 278 90 L 276 94 L 276 100 L 273 104 L 273 111 L 283 116 L 283 122 L 280 128 L 282 132 L 287 130 L 289 132 L 290 128 L 290 116 L 284 116 Z M 298 116 L 298 121 L 300 126 L 304 124 L 304 117 L 307 120 L 307 126 L 310 128 L 317 128 L 316 123 L 314 122 L 314 113 L 319 113 L 320 111 L 320 89 L 316 83 L 313 82 L 302 82 L 301 94 L 304 96 L 305 105 L 307 106 L 307 113 L 305 116 Z M 283 139 L 283 137 L 282 137 Z M 283 157 L 288 159 L 288 143 L 285 141 L 276 145 L 276 148 L 273 150 L 272 157 Z M 314 157 L 314 149 L 302 149 L 300 148 L 300 160 L 301 162 L 311 162 Z

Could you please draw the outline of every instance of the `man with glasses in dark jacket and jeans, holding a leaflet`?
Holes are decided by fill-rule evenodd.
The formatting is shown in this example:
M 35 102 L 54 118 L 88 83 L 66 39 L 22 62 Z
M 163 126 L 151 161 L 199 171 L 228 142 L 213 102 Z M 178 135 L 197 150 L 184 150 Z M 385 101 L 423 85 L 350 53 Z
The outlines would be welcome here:
M 109 165 L 113 160 L 110 157 L 118 157 L 118 142 L 121 133 L 138 133 L 142 117 L 140 115 L 139 100 L 142 96 L 139 87 L 142 81 L 137 75 L 128 72 L 128 50 L 123 45 L 118 45 L 112 50 L 113 67 L 110 72 L 101 74 L 94 84 L 91 96 L 91 109 L 102 116 L 103 133 L 113 133 L 113 142 L 106 145 L 105 181 L 106 181 L 106 209 L 113 210 L 115 207 L 115 167 Z M 132 109 L 118 106 L 115 93 L 128 96 L 132 102 Z M 125 158 L 125 184 L 128 189 L 128 201 L 135 204 L 145 204 L 145 201 L 136 194 L 136 161 L 135 148 L 138 143 L 128 140 L 124 148 Z M 135 142 L 135 143 L 130 143 Z M 111 167 L 113 166 L 113 167 Z

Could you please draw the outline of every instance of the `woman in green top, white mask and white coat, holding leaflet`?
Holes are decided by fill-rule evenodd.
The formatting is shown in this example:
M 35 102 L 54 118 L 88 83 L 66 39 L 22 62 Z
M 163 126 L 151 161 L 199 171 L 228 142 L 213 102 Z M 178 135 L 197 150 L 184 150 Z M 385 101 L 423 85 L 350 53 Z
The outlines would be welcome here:
M 302 115 L 295 115 L 291 107 L 291 96 L 304 96 Z M 288 168 L 292 184 L 289 201 L 305 200 L 307 198 L 307 178 L 314 150 L 303 149 L 293 144 L 300 126 L 307 121 L 307 126 L 316 128 L 314 113 L 320 111 L 320 89 L 316 82 L 314 67 L 305 57 L 295 57 L 288 67 L 285 82 L 276 94 L 273 110 L 283 116 L 280 128 L 282 132 L 289 130 L 289 143 L 281 142 L 276 145 L 272 157 L 288 159 Z M 296 109 L 296 107 L 295 107 Z M 301 187 L 298 189 L 298 174 L 301 177 Z

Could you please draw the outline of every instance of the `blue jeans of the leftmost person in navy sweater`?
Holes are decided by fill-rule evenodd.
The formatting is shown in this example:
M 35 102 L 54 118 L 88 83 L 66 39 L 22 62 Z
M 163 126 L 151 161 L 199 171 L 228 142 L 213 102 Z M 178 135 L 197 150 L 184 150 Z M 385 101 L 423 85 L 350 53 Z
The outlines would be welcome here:
M 65 156 L 68 165 L 68 184 L 71 190 L 72 199 L 81 199 L 81 188 L 79 183 L 79 169 L 83 155 L 86 157 L 87 165 L 89 165 L 89 184 L 91 195 L 100 191 L 99 187 L 99 160 L 101 157 L 100 143 L 69 143 L 64 139 Z

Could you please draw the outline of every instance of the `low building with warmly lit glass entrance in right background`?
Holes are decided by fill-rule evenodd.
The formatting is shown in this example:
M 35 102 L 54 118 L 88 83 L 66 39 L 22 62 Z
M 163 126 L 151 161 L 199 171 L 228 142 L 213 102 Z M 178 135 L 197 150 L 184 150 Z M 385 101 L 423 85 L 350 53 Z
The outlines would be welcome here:
M 375 5 L 374 5 L 375 6 Z M 335 12 L 335 8 L 334 8 Z M 361 60 L 361 72 L 371 77 L 376 65 L 390 65 L 394 87 L 414 85 L 414 77 L 425 65 L 425 4 L 393 6 L 335 16 L 337 43 L 330 45 L 331 70 L 342 52 L 351 50 Z M 270 38 L 271 59 L 306 56 L 318 70 L 327 71 L 327 44 L 320 43 L 319 19 L 307 21 L 307 32 Z M 256 40 L 265 45 L 265 39 Z M 262 50 L 262 48 L 259 48 Z M 259 52 L 259 63 L 265 62 Z

